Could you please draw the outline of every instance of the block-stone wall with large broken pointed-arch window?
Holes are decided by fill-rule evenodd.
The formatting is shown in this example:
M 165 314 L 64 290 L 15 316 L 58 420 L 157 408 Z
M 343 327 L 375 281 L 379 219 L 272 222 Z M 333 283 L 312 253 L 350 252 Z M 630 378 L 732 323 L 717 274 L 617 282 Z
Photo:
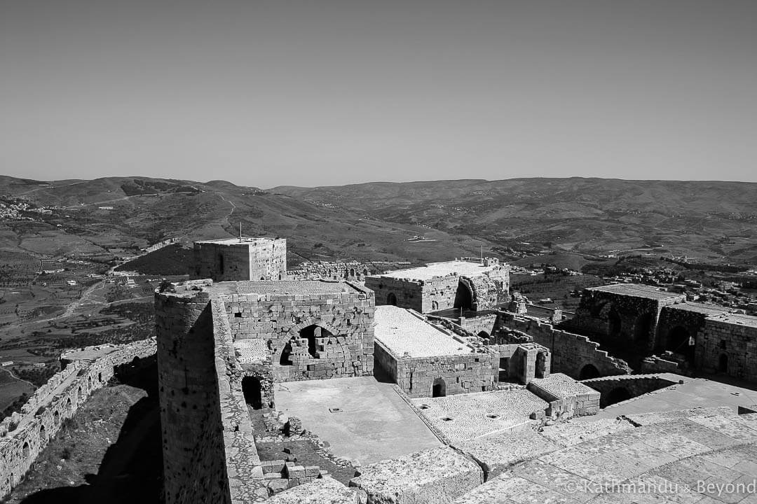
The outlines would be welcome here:
M 350 285 L 332 294 L 224 296 L 232 335 L 265 340 L 276 382 L 371 375 L 373 293 Z M 314 348 L 301 335 L 310 326 L 319 332 Z

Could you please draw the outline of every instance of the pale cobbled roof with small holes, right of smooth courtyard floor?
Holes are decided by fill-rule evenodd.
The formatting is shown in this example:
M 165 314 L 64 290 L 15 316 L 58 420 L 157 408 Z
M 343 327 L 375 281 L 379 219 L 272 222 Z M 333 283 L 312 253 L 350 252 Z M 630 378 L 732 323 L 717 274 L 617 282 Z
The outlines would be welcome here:
M 549 404 L 525 388 L 411 399 L 427 422 L 452 443 L 530 425 Z

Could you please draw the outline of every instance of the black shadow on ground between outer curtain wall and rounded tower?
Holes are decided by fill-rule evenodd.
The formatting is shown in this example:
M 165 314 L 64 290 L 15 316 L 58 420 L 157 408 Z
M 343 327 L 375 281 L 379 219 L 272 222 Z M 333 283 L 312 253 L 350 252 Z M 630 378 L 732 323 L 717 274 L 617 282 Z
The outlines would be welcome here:
M 153 374 L 154 373 L 154 374 Z M 149 382 L 157 367 L 145 366 L 131 373 L 131 380 Z M 149 391 L 151 386 L 145 388 Z M 64 431 L 61 431 L 61 433 Z M 53 441 L 47 450 L 61 450 Z M 45 452 L 41 454 L 44 456 Z M 75 463 L 75 459 L 72 459 Z M 97 475 L 84 475 L 87 484 L 39 490 L 21 504 L 160 504 L 163 499 L 163 449 L 160 441 L 160 407 L 157 395 L 142 397 L 132 407 L 121 426 L 118 439 L 107 448 Z M 23 485 L 23 483 L 22 483 Z M 13 494 L 11 493 L 11 496 Z

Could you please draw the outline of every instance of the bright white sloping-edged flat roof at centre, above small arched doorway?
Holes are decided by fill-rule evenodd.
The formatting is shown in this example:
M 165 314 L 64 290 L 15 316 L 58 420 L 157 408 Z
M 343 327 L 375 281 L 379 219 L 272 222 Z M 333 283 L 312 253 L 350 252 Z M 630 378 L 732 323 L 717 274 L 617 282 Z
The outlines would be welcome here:
M 435 357 L 471 354 L 466 343 L 437 326 L 431 325 L 416 312 L 397 306 L 377 306 L 374 312 L 373 336 L 397 357 Z

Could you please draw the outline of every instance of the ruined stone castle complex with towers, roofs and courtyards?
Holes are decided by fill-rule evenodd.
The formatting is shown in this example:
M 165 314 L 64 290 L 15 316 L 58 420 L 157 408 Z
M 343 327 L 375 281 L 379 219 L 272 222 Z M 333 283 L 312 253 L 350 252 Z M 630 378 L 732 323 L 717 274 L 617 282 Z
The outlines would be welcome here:
M 659 477 L 658 467 L 713 450 L 734 464 L 752 453 L 742 446 L 757 441 L 757 407 L 738 398 L 744 389 L 708 389 L 702 402 L 703 385 L 688 376 L 757 382 L 757 317 L 634 285 L 586 289 L 567 320 L 537 317 L 511 298 L 509 267 L 496 258 L 397 271 L 322 263 L 293 274 L 285 251 L 279 239 L 199 242 L 195 279 L 155 294 L 168 504 L 461 504 L 529 495 L 578 504 L 593 497 L 574 499 L 556 482 L 593 481 L 603 471 L 623 481 Z M 625 348 L 639 362 L 606 348 Z M 93 368 L 111 369 L 99 383 L 111 360 Z M 658 413 L 668 394 L 677 395 Z M 613 408 L 631 403 L 636 409 L 616 419 Z M 31 422 L 23 428 L 39 433 Z M 0 434 L 6 444 L 16 439 L 2 425 Z M 668 436 L 677 440 L 669 448 Z M 43 446 L 25 452 L 22 439 L 0 451 L 5 460 L 33 460 Z M 357 472 L 340 483 L 299 461 L 288 440 L 311 442 Z M 345 440 L 360 445 L 360 460 Z M 588 458 L 604 444 L 620 460 L 644 462 Z M 352 458 L 339 458 L 340 450 Z M 26 468 L 14 465 L 0 488 Z M 675 479 L 684 468 L 670 471 L 663 476 Z

